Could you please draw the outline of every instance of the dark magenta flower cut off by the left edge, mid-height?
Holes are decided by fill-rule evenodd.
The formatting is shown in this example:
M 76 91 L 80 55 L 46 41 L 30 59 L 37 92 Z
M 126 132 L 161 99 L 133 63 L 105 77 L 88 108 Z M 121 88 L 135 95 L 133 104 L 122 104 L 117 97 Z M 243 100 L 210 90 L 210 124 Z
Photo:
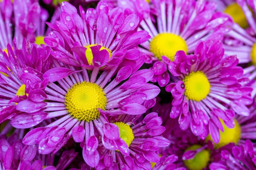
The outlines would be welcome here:
M 13 49 L 7 45 L 7 52 L 0 52 L 0 123 L 16 114 L 16 104 L 27 98 L 27 93 L 35 88 L 23 73 L 37 74 L 50 67 L 50 47 L 39 47 L 23 39 L 22 49 L 18 49 L 16 38 Z M 33 58 L 33 60 L 31 60 Z M 36 87 L 37 88 L 37 87 Z

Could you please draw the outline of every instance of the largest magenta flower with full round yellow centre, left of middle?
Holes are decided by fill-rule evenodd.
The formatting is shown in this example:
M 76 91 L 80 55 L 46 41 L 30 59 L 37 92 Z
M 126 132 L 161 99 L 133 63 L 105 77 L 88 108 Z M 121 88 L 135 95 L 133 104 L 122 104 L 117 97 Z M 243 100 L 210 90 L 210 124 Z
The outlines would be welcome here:
M 29 131 L 23 143 L 39 144 L 39 152 L 48 154 L 56 153 L 71 137 L 76 142 L 85 140 L 83 158 L 95 167 L 99 162 L 96 136 L 103 136 L 104 124 L 108 123 L 101 112 L 107 115 L 143 114 L 155 104 L 160 89 L 147 83 L 153 76 L 151 70 L 137 71 L 143 62 L 139 67 L 127 63 L 99 71 L 108 62 L 108 51 L 100 50 L 100 46 L 91 49 L 92 71 L 69 65 L 61 67 L 54 60 L 54 68 L 44 74 L 38 73 L 38 77 L 27 74 L 27 80 L 34 81 L 30 86 L 37 85 L 38 89 L 16 105 L 22 113 L 13 116 L 11 124 L 15 128 L 30 128 L 51 119 L 49 125 Z M 110 141 L 102 140 L 105 146 L 112 146 Z

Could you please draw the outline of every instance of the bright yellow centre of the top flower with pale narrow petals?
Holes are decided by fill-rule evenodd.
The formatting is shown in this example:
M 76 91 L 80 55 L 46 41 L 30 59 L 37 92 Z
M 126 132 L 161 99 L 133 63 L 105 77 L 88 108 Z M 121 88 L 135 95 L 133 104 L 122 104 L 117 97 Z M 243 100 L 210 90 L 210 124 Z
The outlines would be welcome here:
M 150 51 L 161 60 L 162 56 L 174 61 L 174 56 L 178 50 L 188 51 L 186 41 L 180 36 L 171 33 L 161 33 L 150 42 Z

